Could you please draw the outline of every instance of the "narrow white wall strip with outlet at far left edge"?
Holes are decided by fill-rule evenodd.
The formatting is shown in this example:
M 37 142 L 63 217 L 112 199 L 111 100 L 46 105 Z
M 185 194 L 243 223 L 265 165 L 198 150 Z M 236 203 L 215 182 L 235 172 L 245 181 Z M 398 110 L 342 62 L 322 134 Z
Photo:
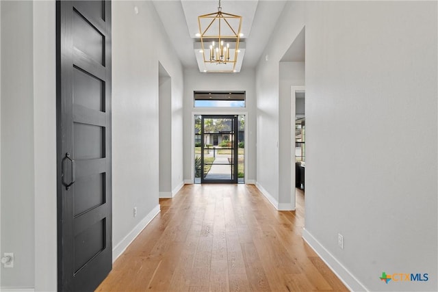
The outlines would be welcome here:
M 15 255 L 3 287 L 34 287 L 32 25 L 31 2 L 1 1 L 1 252 Z

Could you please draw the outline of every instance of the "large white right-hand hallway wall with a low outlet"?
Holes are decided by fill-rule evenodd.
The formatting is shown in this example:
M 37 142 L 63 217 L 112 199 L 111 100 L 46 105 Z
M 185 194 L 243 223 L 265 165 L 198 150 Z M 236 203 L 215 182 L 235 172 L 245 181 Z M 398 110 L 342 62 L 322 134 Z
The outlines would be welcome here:
M 437 291 L 437 2 L 288 2 L 257 68 L 259 143 L 266 124 L 280 127 L 276 57 L 304 24 L 303 235 L 352 289 Z M 383 271 L 430 280 L 385 284 Z

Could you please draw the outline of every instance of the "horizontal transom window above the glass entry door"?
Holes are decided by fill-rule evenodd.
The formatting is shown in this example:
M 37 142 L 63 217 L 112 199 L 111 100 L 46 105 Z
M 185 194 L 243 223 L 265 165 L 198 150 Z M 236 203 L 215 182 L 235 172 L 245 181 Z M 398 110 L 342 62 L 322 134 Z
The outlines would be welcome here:
M 194 107 L 245 107 L 245 92 L 195 91 Z

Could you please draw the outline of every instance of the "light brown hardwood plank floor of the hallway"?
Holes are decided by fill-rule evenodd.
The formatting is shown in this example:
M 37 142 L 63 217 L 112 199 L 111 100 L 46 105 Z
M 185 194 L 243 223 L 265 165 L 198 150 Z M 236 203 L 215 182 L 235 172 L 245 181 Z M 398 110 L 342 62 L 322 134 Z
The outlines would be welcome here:
M 185 185 L 96 291 L 348 291 L 301 238 L 296 211 L 253 185 Z

